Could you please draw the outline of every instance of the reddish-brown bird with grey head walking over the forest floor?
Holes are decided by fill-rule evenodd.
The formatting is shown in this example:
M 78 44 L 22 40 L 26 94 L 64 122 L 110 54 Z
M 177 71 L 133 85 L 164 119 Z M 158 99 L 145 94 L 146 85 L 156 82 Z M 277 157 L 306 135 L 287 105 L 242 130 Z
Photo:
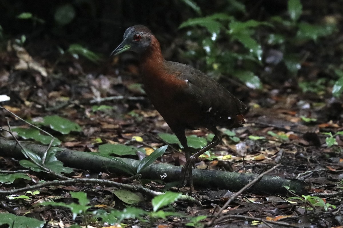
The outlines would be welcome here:
M 217 126 L 232 129 L 245 124 L 243 114 L 247 106 L 202 71 L 165 60 L 158 40 L 144 25 L 127 28 L 122 42 L 111 55 L 126 51 L 137 55 L 147 97 L 184 148 L 186 162 L 181 169 L 181 185 L 188 177 L 190 192 L 195 192 L 192 178 L 195 160 L 221 142 L 222 135 Z M 212 131 L 214 137 L 208 145 L 192 154 L 185 131 L 199 128 Z

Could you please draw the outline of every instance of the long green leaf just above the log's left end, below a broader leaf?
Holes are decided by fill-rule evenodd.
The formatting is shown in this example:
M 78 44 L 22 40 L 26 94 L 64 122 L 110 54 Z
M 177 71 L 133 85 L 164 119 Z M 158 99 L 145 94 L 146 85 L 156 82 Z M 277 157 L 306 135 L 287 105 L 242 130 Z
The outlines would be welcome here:
M 14 132 L 17 132 L 20 137 L 23 139 L 33 139 L 37 142 L 40 142 L 44 145 L 49 145 L 52 138 L 49 135 L 42 135 L 40 131 L 36 128 L 13 128 Z M 58 146 L 61 144 L 61 141 L 57 138 L 54 139 L 51 146 Z

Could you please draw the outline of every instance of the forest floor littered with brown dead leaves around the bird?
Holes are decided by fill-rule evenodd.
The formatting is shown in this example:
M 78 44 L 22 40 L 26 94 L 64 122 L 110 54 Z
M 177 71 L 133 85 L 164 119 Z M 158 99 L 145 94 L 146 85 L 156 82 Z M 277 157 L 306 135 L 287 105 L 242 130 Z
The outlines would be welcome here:
M 172 132 L 142 92 L 138 84 L 137 65 L 124 65 L 118 57 L 111 57 L 99 65 L 86 60 L 64 58 L 55 65 L 47 55 L 35 54 L 38 52 L 37 49 L 34 51 L 35 45 L 39 44 L 27 48 L 30 54 L 24 48 L 15 49 L 11 45 L 7 51 L 0 53 L 0 94 L 11 97 L 10 101 L 2 103 L 3 107 L 25 120 L 58 115 L 79 124 L 82 128 L 80 132 L 64 135 L 44 128 L 61 140 L 60 147 L 72 150 L 96 153 L 99 145 L 112 143 L 144 148 L 150 153 L 152 148 L 167 145 L 158 134 Z M 310 72 L 315 70 L 310 69 Z M 326 94 L 301 93 L 287 82 L 277 86 L 265 85 L 262 90 L 251 90 L 240 85 L 232 93 L 249 106 L 246 124 L 234 129 L 234 133 L 225 134 L 227 129 L 220 129 L 224 134 L 223 141 L 211 150 L 210 156 L 197 159 L 196 168 L 260 174 L 280 164 L 269 175 L 304 180 L 311 184 L 311 188 L 304 196 L 297 196 L 298 199 L 288 199 L 294 197 L 291 193 L 288 196 L 257 195 L 248 189 L 222 212 L 222 219 L 217 221 L 216 227 L 248 227 L 252 224 L 258 227 L 342 227 L 343 140 L 340 135 L 334 135 L 343 131 L 343 123 L 338 118 L 342 115 L 342 102 Z M 105 100 L 105 97 L 112 98 Z M 27 127 L 26 123 L 5 110 L 1 111 L 1 116 L 4 129 L 8 128 L 5 117 L 9 117 L 13 127 Z M 322 132 L 331 132 L 334 136 Z M 2 133 L 3 137 L 11 139 L 4 131 Z M 211 132 L 206 129 L 187 131 L 187 135 L 205 139 L 209 134 Z M 328 142 L 333 142 L 333 139 L 337 145 L 329 147 Z M 182 149 L 178 144 L 171 146 L 156 162 L 182 166 L 185 163 Z M 136 155 L 123 157 L 142 159 L 145 156 L 137 152 Z M 1 157 L 0 166 L 8 171 L 21 169 L 19 161 L 10 157 Z M 29 180 L 2 185 L 0 188 L 7 190 L 49 179 L 42 173 L 27 173 L 31 177 Z M 116 182 L 129 177 L 92 170 L 91 167 L 88 170 L 74 169 L 67 176 Z M 139 184 L 135 180 L 127 183 Z M 145 186 L 154 190 L 164 187 L 156 180 Z M 176 187 L 171 190 L 178 191 Z M 187 187 L 180 190 L 184 194 L 188 192 Z M 232 195 L 230 190 L 196 187 L 202 205 L 177 201 L 172 204 L 172 210 L 182 216 L 158 218 L 154 224 L 159 224 L 157 227 L 184 227 L 190 222 L 191 216 L 206 215 L 207 218 L 201 222 L 188 224 L 201 226 L 209 222 L 211 216 Z M 10 200 L 1 196 L 0 212 L 10 211 L 16 215 L 29 213 L 32 217 L 50 220 L 50 227 L 68 227 L 68 224 L 75 222 L 82 224 L 81 216 L 73 221 L 69 209 L 56 206 L 40 209 L 35 204 L 48 199 L 70 202 L 69 191 L 84 191 L 91 199 L 92 207 L 89 210 L 99 209 L 100 204 L 104 205 L 102 207 L 105 210 L 122 210 L 127 205 L 113 195 L 108 186 L 103 185 L 48 186 L 39 191 L 38 195 L 26 200 Z M 141 197 L 143 200 L 134 206 L 150 210 L 151 196 Z M 307 197 L 306 203 L 300 200 L 304 197 Z M 142 219 L 127 219 L 121 223 L 128 227 L 147 226 Z M 100 227 L 95 221 L 89 222 L 89 225 Z

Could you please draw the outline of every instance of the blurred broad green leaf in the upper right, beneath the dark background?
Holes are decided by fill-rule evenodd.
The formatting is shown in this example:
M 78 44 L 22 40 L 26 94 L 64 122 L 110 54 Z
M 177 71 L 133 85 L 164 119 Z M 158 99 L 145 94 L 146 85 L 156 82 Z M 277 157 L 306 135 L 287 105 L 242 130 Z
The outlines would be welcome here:
M 334 25 L 311 25 L 306 22 L 298 24 L 296 38 L 317 41 L 318 38 L 329 36 L 336 29 Z

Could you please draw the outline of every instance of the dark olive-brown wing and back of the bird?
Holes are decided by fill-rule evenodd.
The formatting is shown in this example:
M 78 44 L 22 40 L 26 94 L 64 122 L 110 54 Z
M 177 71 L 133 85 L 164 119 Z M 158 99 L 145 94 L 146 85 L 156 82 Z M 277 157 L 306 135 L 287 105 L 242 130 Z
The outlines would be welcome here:
M 243 126 L 242 114 L 247 110 L 246 105 L 222 85 L 188 65 L 169 61 L 165 64 L 170 73 L 187 82 L 177 96 L 179 99 L 191 97 L 193 105 L 200 110 L 201 120 L 197 125 L 206 128 L 217 125 L 228 128 Z

